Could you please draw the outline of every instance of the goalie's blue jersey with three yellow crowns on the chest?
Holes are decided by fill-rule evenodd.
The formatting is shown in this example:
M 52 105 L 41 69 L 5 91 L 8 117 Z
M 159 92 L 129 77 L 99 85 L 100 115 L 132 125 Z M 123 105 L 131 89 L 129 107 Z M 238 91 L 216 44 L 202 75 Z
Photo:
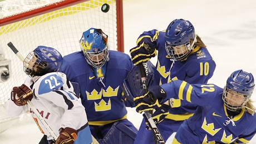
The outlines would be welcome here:
M 127 54 L 109 51 L 106 73 L 101 81 L 94 75 L 82 52 L 63 57 L 61 71 L 70 81 L 79 83 L 89 125 L 101 126 L 126 118 L 120 85 L 132 66 Z

